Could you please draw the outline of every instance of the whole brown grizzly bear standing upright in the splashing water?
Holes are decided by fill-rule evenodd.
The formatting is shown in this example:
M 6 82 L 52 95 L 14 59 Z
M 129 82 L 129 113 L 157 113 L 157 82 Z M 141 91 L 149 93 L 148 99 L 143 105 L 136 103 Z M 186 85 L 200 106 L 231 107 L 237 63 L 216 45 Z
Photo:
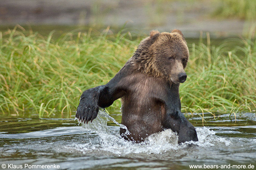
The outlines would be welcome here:
M 120 135 L 141 142 L 152 133 L 171 128 L 178 143 L 198 141 L 195 127 L 181 113 L 179 84 L 186 81 L 184 68 L 189 50 L 180 30 L 151 31 L 134 55 L 106 85 L 83 92 L 76 111 L 80 122 L 92 122 L 99 107 L 121 98 Z

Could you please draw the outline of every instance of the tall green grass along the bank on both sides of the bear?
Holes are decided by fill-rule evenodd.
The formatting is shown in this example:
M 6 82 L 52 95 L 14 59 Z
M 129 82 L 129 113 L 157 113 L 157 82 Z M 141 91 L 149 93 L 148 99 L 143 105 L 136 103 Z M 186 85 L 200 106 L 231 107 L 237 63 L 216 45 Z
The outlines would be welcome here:
M 53 40 L 36 33 L 0 32 L 0 114 L 75 114 L 82 91 L 106 84 L 133 55 L 141 38 L 67 32 Z M 230 47 L 230 44 L 231 45 Z M 180 85 L 183 112 L 256 110 L 256 41 L 189 44 L 188 79 Z M 118 113 L 120 100 L 108 108 Z

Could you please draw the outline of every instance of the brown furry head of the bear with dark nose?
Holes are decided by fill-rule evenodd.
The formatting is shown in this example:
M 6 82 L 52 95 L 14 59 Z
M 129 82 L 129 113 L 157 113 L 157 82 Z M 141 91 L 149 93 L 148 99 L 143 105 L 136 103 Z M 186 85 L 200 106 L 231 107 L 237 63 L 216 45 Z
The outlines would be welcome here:
M 140 42 L 134 54 L 138 69 L 154 77 L 163 77 L 175 84 L 186 81 L 184 68 L 189 49 L 180 30 L 171 33 L 151 31 L 150 37 Z

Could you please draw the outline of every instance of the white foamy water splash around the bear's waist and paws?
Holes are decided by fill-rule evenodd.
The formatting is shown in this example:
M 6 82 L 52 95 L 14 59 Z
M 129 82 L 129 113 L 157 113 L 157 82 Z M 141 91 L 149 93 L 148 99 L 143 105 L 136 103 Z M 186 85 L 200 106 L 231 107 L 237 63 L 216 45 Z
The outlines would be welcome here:
M 108 121 L 113 121 L 118 126 L 108 126 Z M 75 150 L 81 151 L 84 154 L 103 152 L 117 155 L 127 155 L 130 153 L 163 154 L 168 151 L 186 148 L 189 144 L 195 144 L 199 147 L 214 147 L 215 144 L 219 143 L 223 143 L 226 146 L 231 143 L 228 139 L 216 136 L 215 132 L 210 130 L 209 127 L 197 127 L 198 142 L 191 141 L 178 144 L 177 133 L 171 129 L 166 129 L 148 136 L 144 142 L 137 144 L 126 141 L 119 136 L 119 128 L 127 129 L 127 127 L 116 122 L 104 110 L 99 110 L 97 118 L 92 123 L 82 123 L 82 127 L 92 133 L 96 133 L 97 142 L 73 143 L 67 147 L 75 148 Z

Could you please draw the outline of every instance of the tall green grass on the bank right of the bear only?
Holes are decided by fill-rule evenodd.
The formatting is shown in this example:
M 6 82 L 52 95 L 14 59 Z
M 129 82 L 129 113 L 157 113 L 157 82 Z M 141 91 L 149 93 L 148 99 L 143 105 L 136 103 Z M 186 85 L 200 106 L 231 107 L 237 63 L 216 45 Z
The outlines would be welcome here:
M 256 41 L 189 45 L 188 79 L 180 86 L 183 112 L 237 114 L 256 110 Z

